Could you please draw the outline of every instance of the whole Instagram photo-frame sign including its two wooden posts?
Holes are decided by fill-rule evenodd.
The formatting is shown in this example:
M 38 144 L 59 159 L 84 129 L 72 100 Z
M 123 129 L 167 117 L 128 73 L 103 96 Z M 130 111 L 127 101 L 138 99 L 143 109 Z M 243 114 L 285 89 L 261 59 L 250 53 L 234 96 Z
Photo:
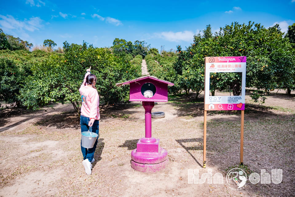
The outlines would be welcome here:
M 242 73 L 241 95 L 210 96 L 210 73 Z M 212 74 L 213 75 L 213 74 Z M 205 58 L 205 96 L 204 96 L 204 143 L 203 168 L 206 168 L 206 129 L 207 111 L 241 110 L 240 164 L 243 165 L 244 111 L 246 87 L 246 57 L 206 57 Z

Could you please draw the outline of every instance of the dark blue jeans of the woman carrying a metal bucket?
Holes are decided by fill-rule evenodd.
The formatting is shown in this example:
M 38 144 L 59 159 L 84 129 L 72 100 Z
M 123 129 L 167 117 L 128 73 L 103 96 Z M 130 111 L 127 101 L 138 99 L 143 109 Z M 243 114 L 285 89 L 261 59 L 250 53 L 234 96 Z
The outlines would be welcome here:
M 82 115 L 80 116 L 81 133 L 83 131 L 89 130 L 89 126 L 88 126 L 89 121 L 90 121 L 90 119 L 88 117 L 85 117 Z M 98 131 L 99 131 L 98 127 L 99 127 L 99 121 L 95 120 L 92 127 L 91 127 L 92 128 L 91 131 L 94 133 L 97 133 L 97 135 L 98 135 Z M 98 137 L 97 137 L 97 139 L 98 139 Z M 95 151 L 96 145 L 97 145 L 97 139 L 94 143 L 94 146 L 89 149 L 82 147 L 82 140 L 81 140 L 81 151 L 82 151 L 84 160 L 88 159 L 90 162 L 92 161 L 93 156 L 94 156 L 94 151 Z

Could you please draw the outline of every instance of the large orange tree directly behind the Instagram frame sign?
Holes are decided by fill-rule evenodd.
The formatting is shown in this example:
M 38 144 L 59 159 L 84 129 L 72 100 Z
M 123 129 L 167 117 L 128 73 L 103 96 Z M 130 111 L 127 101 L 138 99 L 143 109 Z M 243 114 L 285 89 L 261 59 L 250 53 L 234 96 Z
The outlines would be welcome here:
M 264 28 L 260 24 L 226 25 L 213 36 L 210 25 L 203 34 L 194 36 L 194 42 L 186 50 L 177 48 L 178 58 L 174 63 L 177 73 L 176 86 L 182 90 L 197 92 L 204 87 L 204 57 L 206 56 L 247 56 L 246 86 L 257 90 L 252 94 L 254 101 L 264 97 L 275 88 L 294 89 L 294 50 L 287 38 L 283 37 L 278 25 Z M 240 93 L 239 73 L 212 73 L 210 91 L 230 90 Z

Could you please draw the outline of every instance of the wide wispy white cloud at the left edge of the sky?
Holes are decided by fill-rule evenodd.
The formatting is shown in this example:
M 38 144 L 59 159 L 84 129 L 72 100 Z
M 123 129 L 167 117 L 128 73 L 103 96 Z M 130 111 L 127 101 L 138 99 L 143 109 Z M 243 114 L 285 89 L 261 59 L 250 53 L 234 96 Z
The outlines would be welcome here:
M 20 21 L 15 19 L 11 15 L 3 16 L 0 14 L 0 26 L 6 31 L 18 30 L 23 32 L 23 30 L 34 31 L 41 28 L 43 20 L 40 17 L 32 17 L 29 20 Z

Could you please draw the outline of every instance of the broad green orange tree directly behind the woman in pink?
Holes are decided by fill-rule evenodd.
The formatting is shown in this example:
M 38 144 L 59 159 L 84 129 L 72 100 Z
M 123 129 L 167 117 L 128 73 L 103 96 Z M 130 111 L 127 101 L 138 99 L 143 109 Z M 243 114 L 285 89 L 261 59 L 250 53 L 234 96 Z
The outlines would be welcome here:
M 37 109 L 50 102 L 69 101 L 79 113 L 81 99 L 78 90 L 89 66 L 97 77 L 96 88 L 101 100 L 107 104 L 129 100 L 129 88 L 115 84 L 139 77 L 138 61 L 132 64 L 127 55 L 116 56 L 107 48 L 95 48 L 85 42 L 83 45 L 64 42 L 64 51 L 64 54 L 53 54 L 32 68 L 33 73 L 21 90 L 24 105 Z

